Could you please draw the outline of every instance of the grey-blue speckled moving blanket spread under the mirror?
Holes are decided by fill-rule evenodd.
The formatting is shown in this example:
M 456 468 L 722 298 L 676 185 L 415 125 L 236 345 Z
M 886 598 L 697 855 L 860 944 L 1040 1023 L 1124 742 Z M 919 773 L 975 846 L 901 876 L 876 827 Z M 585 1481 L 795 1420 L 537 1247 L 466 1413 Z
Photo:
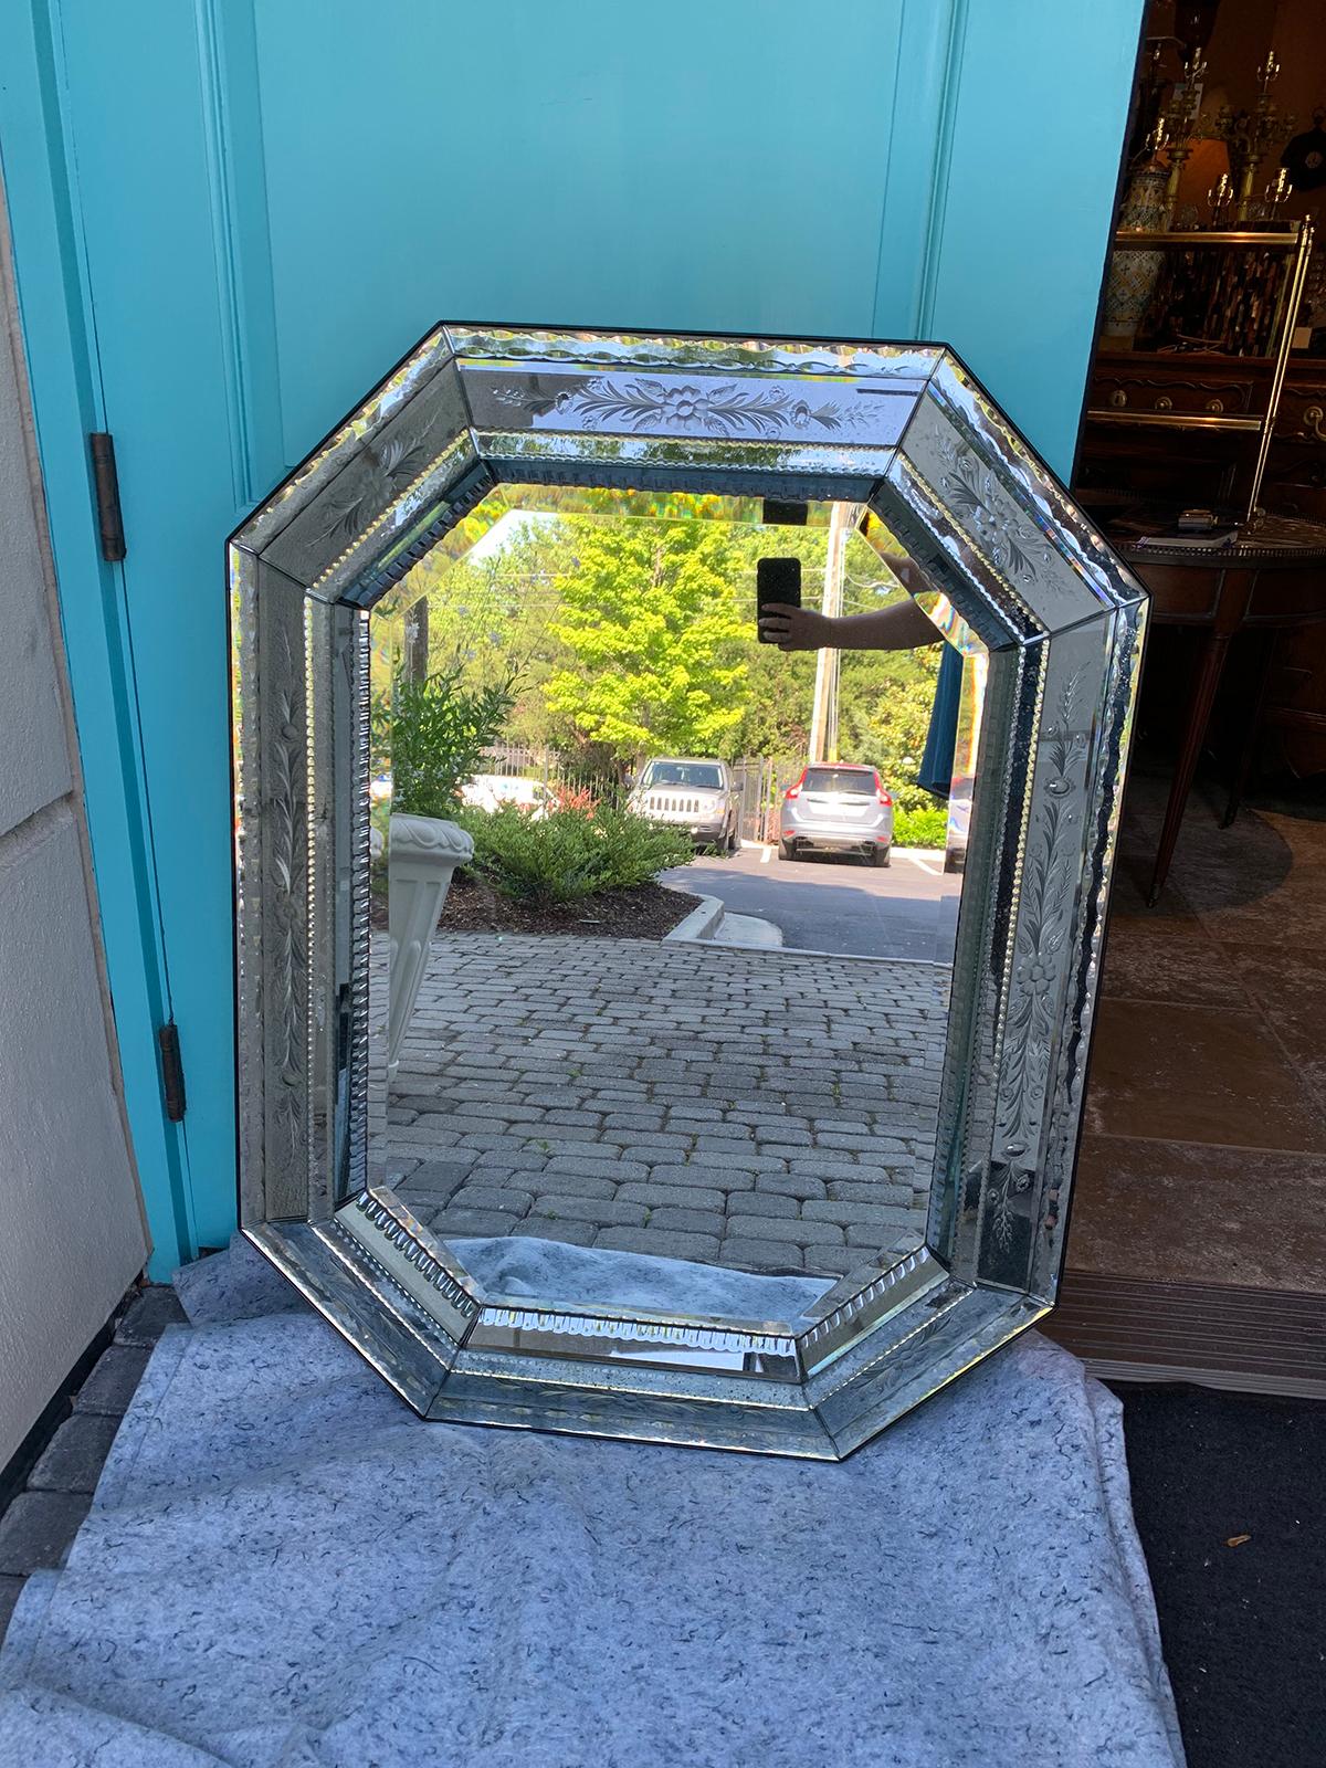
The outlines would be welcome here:
M 4 1768 L 1176 1768 L 1119 1406 L 1027 1335 L 842 1466 L 426 1425 L 180 1273 Z

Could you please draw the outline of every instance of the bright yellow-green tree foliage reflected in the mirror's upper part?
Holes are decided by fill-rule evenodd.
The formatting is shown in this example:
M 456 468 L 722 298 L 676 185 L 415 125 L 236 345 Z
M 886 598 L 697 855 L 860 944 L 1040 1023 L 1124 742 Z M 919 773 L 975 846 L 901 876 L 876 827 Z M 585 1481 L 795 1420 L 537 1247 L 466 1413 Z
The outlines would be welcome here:
M 755 560 L 799 557 L 815 605 L 824 548 L 822 527 L 536 516 L 477 557 L 423 560 L 394 596 L 428 599 L 430 674 L 483 690 L 518 672 L 509 743 L 603 766 L 665 750 L 794 758 L 815 658 L 757 642 Z M 847 571 L 849 613 L 902 594 L 859 537 Z M 930 803 L 912 781 L 937 665 L 937 645 L 842 659 L 842 758 L 877 766 L 902 803 Z

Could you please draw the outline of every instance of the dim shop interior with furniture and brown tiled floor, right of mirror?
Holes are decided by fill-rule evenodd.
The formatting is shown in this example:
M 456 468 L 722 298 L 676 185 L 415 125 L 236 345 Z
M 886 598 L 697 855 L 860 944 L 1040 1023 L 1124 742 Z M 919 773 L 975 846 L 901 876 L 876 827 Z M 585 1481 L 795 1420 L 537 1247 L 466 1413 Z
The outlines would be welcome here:
M 1305 1395 L 1326 1393 L 1324 207 L 1314 0 L 1156 0 L 1073 483 L 1151 633 L 1050 1331 L 1101 1370 Z

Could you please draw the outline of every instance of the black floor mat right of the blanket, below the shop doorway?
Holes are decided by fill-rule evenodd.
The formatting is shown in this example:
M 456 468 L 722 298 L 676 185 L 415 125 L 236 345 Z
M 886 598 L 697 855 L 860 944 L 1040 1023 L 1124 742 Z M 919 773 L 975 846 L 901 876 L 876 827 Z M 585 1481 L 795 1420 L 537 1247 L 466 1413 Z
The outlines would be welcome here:
M 1188 1768 L 1322 1768 L 1326 1404 L 1117 1393 Z

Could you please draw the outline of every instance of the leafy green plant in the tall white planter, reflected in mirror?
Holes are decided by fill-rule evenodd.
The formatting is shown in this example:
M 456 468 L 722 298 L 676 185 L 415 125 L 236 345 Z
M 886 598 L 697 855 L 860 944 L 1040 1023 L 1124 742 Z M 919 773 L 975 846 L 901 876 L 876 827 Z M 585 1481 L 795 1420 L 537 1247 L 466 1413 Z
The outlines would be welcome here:
M 460 668 L 423 681 L 398 674 L 391 697 L 373 704 L 373 771 L 391 773 L 392 812 L 453 817 L 514 704 L 514 681 L 465 688 Z

